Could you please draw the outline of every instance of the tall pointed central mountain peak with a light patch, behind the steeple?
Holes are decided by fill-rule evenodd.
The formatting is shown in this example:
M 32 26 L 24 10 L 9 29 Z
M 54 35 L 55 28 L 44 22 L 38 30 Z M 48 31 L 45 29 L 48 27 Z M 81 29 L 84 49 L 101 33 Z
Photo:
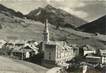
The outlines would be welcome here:
M 50 24 L 56 25 L 57 27 L 76 28 L 87 23 L 83 19 L 71 15 L 62 9 L 57 9 L 51 5 L 47 5 L 44 8 L 39 7 L 38 9 L 31 11 L 27 16 L 30 19 L 41 22 L 47 18 Z

